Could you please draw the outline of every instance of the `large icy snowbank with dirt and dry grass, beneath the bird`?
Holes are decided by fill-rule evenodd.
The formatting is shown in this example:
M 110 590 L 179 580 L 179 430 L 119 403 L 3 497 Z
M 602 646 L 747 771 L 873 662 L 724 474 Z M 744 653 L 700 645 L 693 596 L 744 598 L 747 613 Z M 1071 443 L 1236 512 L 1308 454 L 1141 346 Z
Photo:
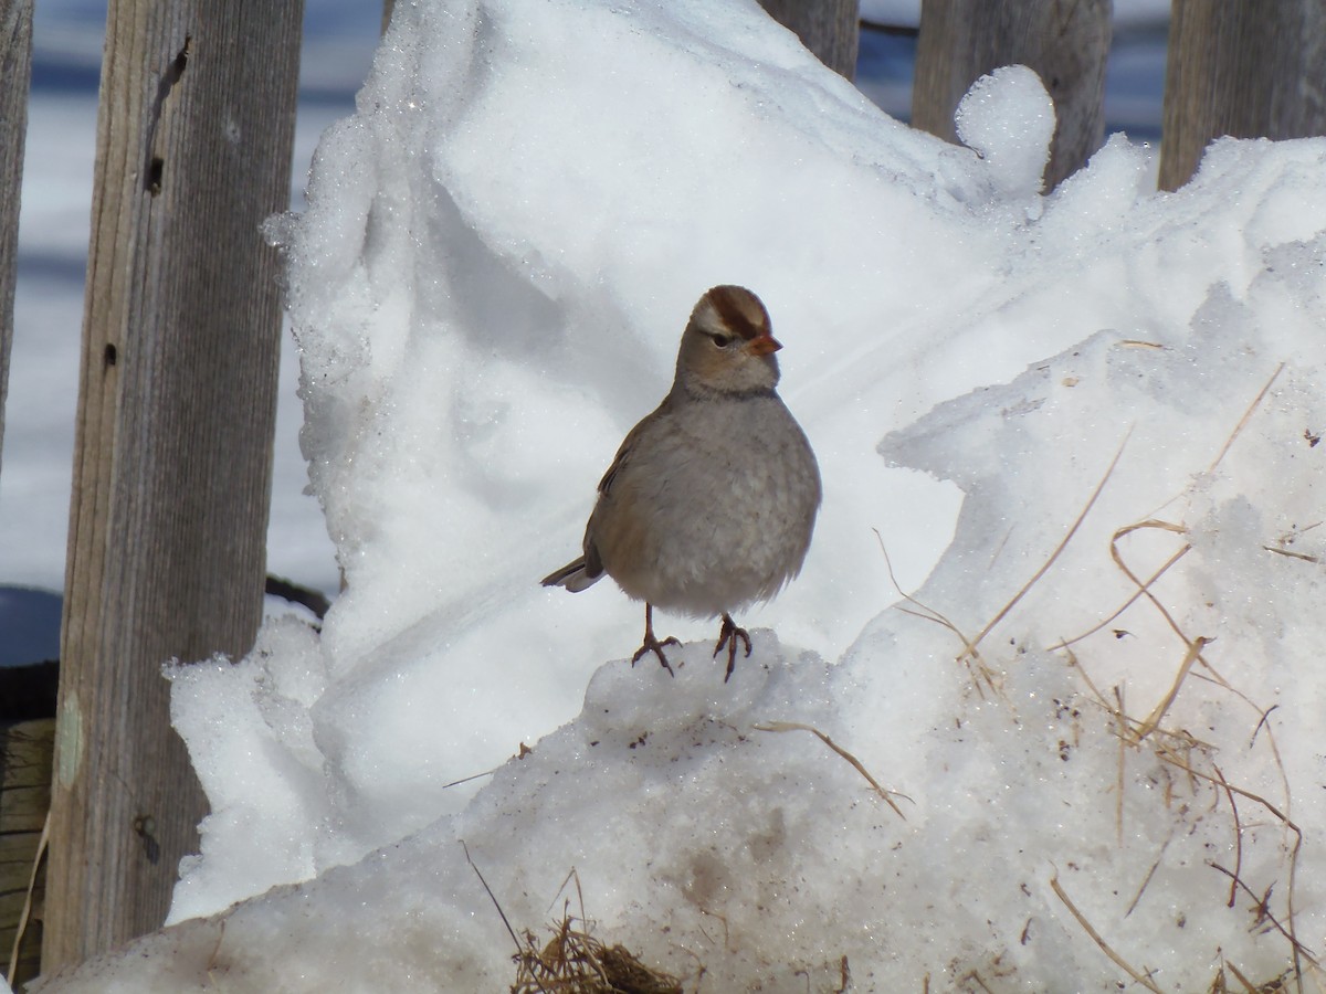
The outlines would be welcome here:
M 1131 983 L 1083 922 L 1167 991 L 1323 952 L 1326 142 L 1158 195 L 1116 137 L 1042 196 L 1046 105 L 984 81 L 977 155 L 754 3 L 398 5 L 274 231 L 347 590 L 172 671 L 175 920 L 285 885 L 45 990 L 505 989 L 461 839 L 514 928 L 582 896 L 687 990 Z M 727 685 L 709 627 L 659 619 L 671 679 L 611 584 L 537 587 L 719 282 L 826 490 Z

